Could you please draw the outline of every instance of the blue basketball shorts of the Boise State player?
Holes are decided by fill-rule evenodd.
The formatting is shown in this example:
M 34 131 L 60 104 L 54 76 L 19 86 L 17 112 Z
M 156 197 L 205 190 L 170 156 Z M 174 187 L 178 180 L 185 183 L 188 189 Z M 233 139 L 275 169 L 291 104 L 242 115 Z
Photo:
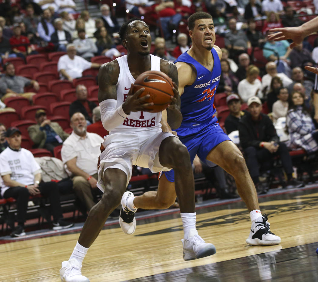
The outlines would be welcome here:
M 215 166 L 212 162 L 206 160 L 207 155 L 215 146 L 223 141 L 231 141 L 218 122 L 215 123 L 213 121 L 203 124 L 183 123 L 176 132 L 180 141 L 187 147 L 190 153 L 191 164 L 195 156 L 198 155 L 200 160 L 207 165 Z M 166 175 L 168 181 L 175 181 L 175 172 L 173 169 L 162 172 L 162 174 Z

